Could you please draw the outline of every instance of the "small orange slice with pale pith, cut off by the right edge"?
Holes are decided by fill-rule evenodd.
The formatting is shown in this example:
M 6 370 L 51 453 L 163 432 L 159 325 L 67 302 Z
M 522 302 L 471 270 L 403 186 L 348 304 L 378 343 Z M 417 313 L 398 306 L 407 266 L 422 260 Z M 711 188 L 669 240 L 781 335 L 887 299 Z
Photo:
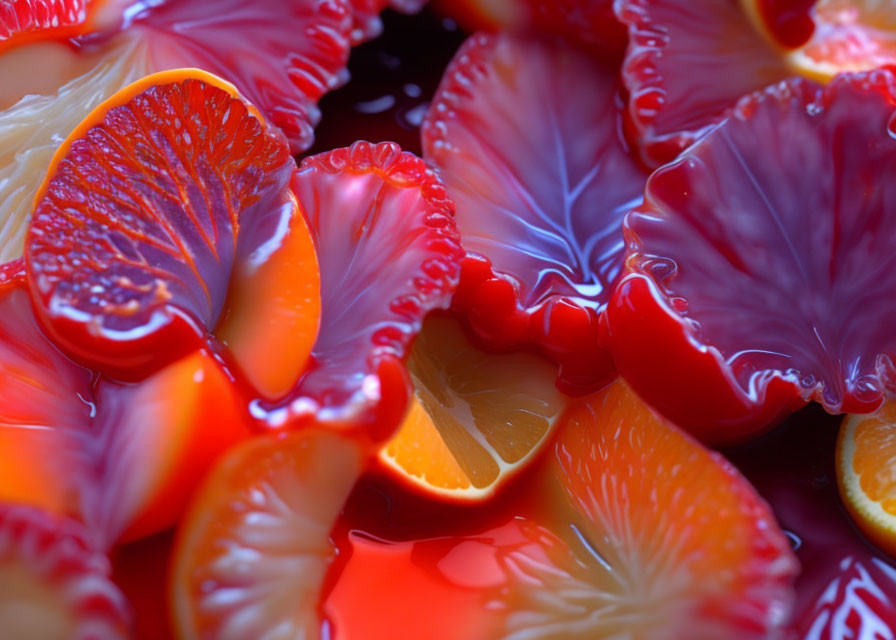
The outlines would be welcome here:
M 896 555 L 896 401 L 850 415 L 837 438 L 837 484 L 853 521 Z

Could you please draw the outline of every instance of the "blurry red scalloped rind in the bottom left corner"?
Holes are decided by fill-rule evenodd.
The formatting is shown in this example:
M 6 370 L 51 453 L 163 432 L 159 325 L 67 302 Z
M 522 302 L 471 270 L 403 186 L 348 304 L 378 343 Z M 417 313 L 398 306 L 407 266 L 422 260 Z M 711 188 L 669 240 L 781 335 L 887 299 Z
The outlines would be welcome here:
M 108 559 L 87 540 L 85 529 L 74 521 L 52 517 L 34 507 L 0 504 L 0 574 L 12 570 L 13 576 L 17 573 L 21 576 L 20 572 L 24 571 L 26 580 L 34 580 L 57 595 L 65 610 L 43 613 L 68 619 L 73 628 L 67 637 L 76 640 L 128 638 L 127 603 L 109 578 Z M 2 584 L 0 591 L 10 589 L 7 597 L 27 598 L 26 585 L 22 586 L 23 591 L 17 593 L 16 584 Z M 4 604 L 15 607 L 16 603 L 15 600 L 0 601 L 0 610 Z M 17 632 L 22 629 L 9 628 L 17 612 L 13 608 L 8 613 L 13 619 L 4 618 L 4 634 L 21 637 Z M 40 612 L 33 611 L 34 614 Z M 18 615 L 27 615 L 27 609 Z M 27 633 L 27 628 L 24 632 Z

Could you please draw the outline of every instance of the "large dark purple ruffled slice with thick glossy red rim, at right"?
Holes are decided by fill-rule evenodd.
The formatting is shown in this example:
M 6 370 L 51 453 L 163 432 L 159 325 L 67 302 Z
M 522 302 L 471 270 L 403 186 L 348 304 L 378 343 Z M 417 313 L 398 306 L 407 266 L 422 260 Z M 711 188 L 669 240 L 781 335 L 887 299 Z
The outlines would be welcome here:
M 894 86 L 874 71 L 747 97 L 653 174 L 626 219 L 607 314 L 616 366 L 701 439 L 749 437 L 810 400 L 831 413 L 883 402 Z

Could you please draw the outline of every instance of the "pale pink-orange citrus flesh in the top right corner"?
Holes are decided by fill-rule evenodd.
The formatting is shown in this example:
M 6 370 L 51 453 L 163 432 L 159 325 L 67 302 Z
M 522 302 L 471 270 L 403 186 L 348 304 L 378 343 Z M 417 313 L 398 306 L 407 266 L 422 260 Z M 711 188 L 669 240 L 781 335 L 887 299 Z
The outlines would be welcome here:
M 813 4 L 812 38 L 788 58 L 797 71 L 827 81 L 844 71 L 866 71 L 896 63 L 896 12 L 892 2 L 818 0 Z

